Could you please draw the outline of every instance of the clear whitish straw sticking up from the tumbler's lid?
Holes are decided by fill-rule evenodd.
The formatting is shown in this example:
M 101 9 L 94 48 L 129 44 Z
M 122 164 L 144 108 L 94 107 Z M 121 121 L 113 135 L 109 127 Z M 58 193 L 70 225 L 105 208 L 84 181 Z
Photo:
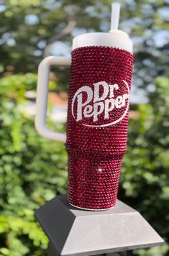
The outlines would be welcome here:
M 120 3 L 112 3 L 112 16 L 111 16 L 111 27 L 110 29 L 118 29 L 120 17 Z

